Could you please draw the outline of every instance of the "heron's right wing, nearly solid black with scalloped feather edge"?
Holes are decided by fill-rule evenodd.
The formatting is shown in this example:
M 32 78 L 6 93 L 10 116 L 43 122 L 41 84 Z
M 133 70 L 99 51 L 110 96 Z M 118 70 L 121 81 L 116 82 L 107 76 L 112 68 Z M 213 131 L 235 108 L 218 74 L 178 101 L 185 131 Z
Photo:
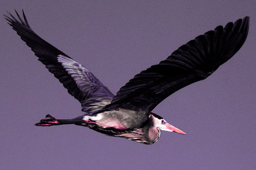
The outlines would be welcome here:
M 175 91 L 212 74 L 243 45 L 249 17 L 218 26 L 182 45 L 166 60 L 140 72 L 121 87 L 105 110 L 124 108 L 152 111 Z

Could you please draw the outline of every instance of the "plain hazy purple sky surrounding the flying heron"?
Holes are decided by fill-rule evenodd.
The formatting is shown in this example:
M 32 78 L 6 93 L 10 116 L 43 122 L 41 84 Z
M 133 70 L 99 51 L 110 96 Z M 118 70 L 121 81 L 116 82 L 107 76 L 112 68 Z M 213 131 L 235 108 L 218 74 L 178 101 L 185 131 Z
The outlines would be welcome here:
M 207 3 L 206 3 L 207 2 Z M 25 10 L 32 29 L 116 93 L 180 45 L 250 16 L 247 40 L 213 75 L 153 112 L 187 135 L 162 132 L 144 145 L 74 125 L 34 126 L 81 106 L 1 22 L 0 169 L 253 169 L 256 167 L 255 1 L 1 1 Z

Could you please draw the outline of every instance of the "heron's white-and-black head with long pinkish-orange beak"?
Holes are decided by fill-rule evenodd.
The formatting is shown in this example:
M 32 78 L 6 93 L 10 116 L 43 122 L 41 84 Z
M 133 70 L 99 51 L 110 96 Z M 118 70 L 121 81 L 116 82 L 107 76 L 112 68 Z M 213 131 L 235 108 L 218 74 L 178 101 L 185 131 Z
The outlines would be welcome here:
M 151 118 L 153 119 L 153 123 L 154 123 L 154 127 L 158 128 L 159 130 L 163 130 L 163 131 L 169 131 L 169 132 L 176 132 L 176 133 L 180 133 L 185 135 L 186 133 L 183 132 L 182 130 L 174 127 L 173 125 L 168 124 L 163 117 L 155 114 L 155 113 L 151 113 Z

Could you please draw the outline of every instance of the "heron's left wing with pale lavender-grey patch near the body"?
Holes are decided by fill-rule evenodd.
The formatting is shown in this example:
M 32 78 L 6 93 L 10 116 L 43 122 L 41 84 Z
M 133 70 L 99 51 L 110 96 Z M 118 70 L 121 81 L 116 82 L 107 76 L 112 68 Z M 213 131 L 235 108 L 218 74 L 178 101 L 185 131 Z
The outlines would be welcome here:
M 111 102 L 114 95 L 86 67 L 40 38 L 30 28 L 24 11 L 24 20 L 16 14 L 19 20 L 11 14 L 11 17 L 5 15 L 9 25 L 31 47 L 38 60 L 81 103 L 82 111 L 93 114 Z

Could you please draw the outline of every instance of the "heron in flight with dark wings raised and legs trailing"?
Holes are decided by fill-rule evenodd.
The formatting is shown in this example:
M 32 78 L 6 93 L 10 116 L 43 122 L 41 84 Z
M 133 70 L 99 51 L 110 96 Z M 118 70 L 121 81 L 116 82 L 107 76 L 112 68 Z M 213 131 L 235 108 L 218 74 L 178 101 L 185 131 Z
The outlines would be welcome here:
M 114 95 L 86 67 L 40 38 L 27 17 L 15 10 L 5 19 L 38 60 L 81 103 L 82 115 L 57 119 L 47 114 L 35 126 L 73 124 L 143 144 L 158 141 L 161 131 L 186 134 L 152 110 L 177 90 L 206 79 L 244 44 L 249 17 L 218 26 L 180 46 L 166 60 L 135 75 Z

